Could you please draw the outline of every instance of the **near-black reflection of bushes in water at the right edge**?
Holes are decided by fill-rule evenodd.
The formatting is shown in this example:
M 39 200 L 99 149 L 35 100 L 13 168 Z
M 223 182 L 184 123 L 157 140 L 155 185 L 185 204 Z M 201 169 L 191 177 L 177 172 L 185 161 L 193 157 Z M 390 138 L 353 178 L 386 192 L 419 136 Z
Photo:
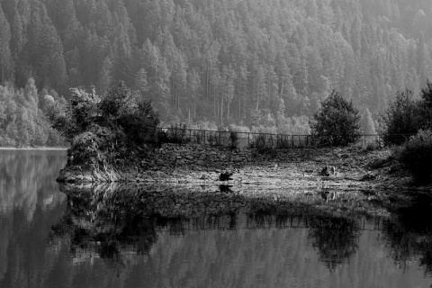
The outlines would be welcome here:
M 403 208 L 392 220 L 385 221 L 383 237 L 390 247 L 395 263 L 406 269 L 414 257 L 419 265 L 432 274 L 432 200 L 421 196 L 417 202 Z

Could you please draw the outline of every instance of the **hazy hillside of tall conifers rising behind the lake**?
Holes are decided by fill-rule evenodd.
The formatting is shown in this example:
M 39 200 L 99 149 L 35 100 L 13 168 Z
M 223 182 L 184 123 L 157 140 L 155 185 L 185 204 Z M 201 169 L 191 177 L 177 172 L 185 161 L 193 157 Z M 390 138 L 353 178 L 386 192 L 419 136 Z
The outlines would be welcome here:
M 69 87 L 103 94 L 124 80 L 166 122 L 289 133 L 332 89 L 376 117 L 396 91 L 417 93 L 432 78 L 429 0 L 0 4 L 3 85 L 32 76 L 67 98 Z

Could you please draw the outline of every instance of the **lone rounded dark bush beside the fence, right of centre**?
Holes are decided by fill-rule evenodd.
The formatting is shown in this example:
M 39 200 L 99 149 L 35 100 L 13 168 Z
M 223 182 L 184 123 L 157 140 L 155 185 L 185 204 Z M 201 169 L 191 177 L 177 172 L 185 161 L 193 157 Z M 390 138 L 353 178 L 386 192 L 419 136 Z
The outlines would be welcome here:
M 336 91 L 321 103 L 310 125 L 313 138 L 324 146 L 347 146 L 361 136 L 358 110 Z

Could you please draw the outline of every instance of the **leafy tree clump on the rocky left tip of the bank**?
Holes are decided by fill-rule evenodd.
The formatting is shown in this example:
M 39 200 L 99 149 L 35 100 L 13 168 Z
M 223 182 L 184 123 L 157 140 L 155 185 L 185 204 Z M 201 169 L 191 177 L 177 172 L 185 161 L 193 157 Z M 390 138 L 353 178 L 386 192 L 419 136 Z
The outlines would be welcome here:
M 49 119 L 72 144 L 72 164 L 103 165 L 135 149 L 146 151 L 157 144 L 157 112 L 124 83 L 112 87 L 101 99 L 92 91 L 71 89 L 69 107 L 52 105 Z M 129 149 L 128 149 L 129 148 Z M 129 152 L 126 152 L 129 151 Z

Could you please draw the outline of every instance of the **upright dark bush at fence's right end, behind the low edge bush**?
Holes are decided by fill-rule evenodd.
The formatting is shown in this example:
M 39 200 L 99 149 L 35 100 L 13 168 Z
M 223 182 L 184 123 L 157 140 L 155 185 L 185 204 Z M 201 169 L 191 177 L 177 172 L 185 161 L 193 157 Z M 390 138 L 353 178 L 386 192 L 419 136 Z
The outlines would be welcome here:
M 380 125 L 384 145 L 400 145 L 421 128 L 419 103 L 414 101 L 412 91 L 398 92 L 396 99 L 381 115 Z

